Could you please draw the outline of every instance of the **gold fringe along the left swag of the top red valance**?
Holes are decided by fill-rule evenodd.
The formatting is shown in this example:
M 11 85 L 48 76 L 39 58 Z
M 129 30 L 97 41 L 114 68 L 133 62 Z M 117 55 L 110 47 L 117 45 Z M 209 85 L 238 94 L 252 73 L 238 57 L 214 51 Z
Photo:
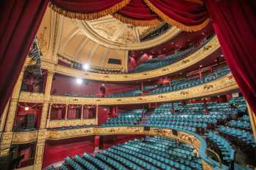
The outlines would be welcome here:
M 53 11 L 58 12 L 59 14 L 64 15 L 68 18 L 76 18 L 79 20 L 95 20 L 97 18 L 102 18 L 106 15 L 111 15 L 120 10 L 122 7 L 127 6 L 127 4 L 129 4 L 129 0 L 123 0 L 118 4 L 113 5 L 113 7 L 94 13 L 70 12 L 65 9 L 62 9 L 61 7 L 56 6 L 56 4 L 53 4 L 51 1 L 49 3 L 49 6 L 51 9 L 53 9 Z

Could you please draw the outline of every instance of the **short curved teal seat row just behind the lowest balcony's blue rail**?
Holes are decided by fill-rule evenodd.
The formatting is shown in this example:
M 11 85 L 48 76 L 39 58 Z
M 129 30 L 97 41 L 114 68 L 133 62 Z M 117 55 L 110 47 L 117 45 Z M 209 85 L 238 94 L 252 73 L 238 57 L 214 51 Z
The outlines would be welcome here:
M 214 142 L 214 144 L 217 144 L 217 147 L 221 151 L 222 160 L 227 161 L 228 163 L 234 161 L 235 150 L 233 150 L 233 147 L 231 146 L 230 142 L 227 141 L 227 139 L 219 136 L 216 132 L 213 131 L 208 131 L 206 137 L 211 142 Z

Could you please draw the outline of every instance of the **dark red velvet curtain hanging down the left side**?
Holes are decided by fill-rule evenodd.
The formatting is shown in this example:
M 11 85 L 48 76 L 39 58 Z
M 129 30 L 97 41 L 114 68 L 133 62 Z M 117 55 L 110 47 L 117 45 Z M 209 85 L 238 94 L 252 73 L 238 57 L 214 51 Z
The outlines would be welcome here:
M 47 5 L 47 0 L 1 1 L 0 115 L 18 79 Z

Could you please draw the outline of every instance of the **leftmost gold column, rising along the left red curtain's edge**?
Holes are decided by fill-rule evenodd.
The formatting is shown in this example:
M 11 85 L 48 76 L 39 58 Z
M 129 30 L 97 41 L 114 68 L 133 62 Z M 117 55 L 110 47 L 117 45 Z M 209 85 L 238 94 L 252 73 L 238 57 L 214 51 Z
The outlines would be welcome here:
M 22 71 L 20 72 L 18 80 L 12 91 L 12 97 L 10 99 L 9 110 L 7 112 L 4 133 L 3 133 L 3 136 L 1 137 L 0 156 L 7 155 L 10 151 L 10 145 L 12 143 L 12 134 L 13 134 L 12 128 L 15 122 L 15 115 L 18 107 L 18 97 L 20 95 L 20 87 L 23 80 L 24 69 L 25 67 L 23 67 Z

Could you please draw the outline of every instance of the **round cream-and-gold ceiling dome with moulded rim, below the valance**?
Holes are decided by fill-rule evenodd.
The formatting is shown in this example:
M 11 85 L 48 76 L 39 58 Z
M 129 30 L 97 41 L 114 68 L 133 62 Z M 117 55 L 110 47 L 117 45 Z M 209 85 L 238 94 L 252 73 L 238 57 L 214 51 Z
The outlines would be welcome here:
M 165 33 L 154 37 L 154 39 L 140 42 L 141 37 L 157 30 L 163 26 L 163 24 L 164 23 L 159 23 L 157 26 L 134 27 L 121 23 L 112 16 L 106 16 L 92 21 L 81 20 L 80 23 L 78 23 L 78 27 L 94 42 L 99 42 L 100 45 L 105 47 L 118 50 L 141 50 L 167 42 L 167 40 L 172 39 L 181 32 L 181 30 L 172 26 L 167 29 Z M 134 37 L 131 38 L 130 36 Z

